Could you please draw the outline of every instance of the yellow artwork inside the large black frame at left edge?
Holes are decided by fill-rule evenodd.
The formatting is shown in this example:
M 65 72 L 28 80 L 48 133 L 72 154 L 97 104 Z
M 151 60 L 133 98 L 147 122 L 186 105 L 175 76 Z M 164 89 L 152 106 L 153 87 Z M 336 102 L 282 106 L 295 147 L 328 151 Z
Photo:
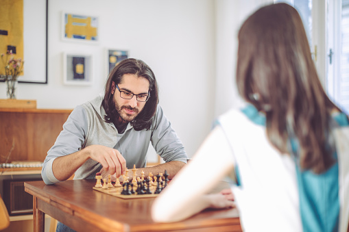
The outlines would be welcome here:
M 23 0 L 0 0 L 0 5 L 0 54 L 6 54 L 11 46 L 16 50 L 14 58 L 23 59 Z M 3 75 L 5 68 L 3 61 L 0 62 L 0 75 Z

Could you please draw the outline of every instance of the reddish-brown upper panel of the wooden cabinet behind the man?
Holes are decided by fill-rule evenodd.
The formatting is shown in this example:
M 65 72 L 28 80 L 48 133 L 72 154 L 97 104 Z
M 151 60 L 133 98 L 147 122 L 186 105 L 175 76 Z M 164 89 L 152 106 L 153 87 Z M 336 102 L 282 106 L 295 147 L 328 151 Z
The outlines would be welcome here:
M 0 163 L 43 162 L 71 111 L 0 108 Z

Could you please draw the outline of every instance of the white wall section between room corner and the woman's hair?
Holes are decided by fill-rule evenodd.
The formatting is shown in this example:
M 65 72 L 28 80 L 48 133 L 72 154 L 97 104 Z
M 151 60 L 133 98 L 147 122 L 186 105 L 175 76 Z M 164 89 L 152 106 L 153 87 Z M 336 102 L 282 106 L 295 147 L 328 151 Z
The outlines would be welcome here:
M 237 92 L 235 72 L 237 62 L 237 35 L 245 19 L 262 5 L 273 0 L 216 0 L 216 97 L 215 115 L 230 108 L 241 107 L 243 101 Z

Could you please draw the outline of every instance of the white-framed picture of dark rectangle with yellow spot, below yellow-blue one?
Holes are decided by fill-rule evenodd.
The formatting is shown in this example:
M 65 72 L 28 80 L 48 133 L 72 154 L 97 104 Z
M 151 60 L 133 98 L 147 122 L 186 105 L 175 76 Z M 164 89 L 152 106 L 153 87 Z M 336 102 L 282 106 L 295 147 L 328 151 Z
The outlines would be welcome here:
M 63 53 L 63 83 L 73 86 L 92 84 L 92 55 Z

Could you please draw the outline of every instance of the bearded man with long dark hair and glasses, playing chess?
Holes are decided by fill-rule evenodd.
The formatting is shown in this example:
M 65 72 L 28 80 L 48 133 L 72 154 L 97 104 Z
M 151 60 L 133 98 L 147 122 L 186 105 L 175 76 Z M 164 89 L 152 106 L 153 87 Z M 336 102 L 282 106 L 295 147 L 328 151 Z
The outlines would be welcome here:
M 145 168 L 152 142 L 165 164 Z M 133 168 L 169 172 L 171 179 L 187 155 L 171 123 L 158 105 L 158 86 L 152 70 L 141 60 L 127 59 L 108 77 L 104 97 L 75 107 L 55 144 L 48 151 L 43 170 L 47 184 L 69 179 L 112 175 L 112 181 Z M 132 172 L 129 172 L 132 178 Z

